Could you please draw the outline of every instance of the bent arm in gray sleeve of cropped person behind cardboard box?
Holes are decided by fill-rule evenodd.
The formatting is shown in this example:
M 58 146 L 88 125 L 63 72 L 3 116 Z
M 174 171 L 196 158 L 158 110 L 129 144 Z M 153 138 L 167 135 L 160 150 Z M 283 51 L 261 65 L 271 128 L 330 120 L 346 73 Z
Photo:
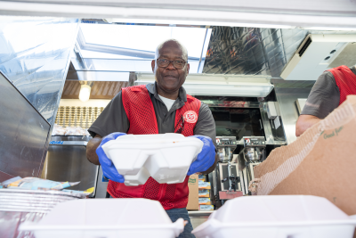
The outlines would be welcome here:
M 325 71 L 320 75 L 308 96 L 303 111 L 296 121 L 295 135 L 299 136 L 309 127 L 334 111 L 340 102 L 339 89 L 332 73 Z

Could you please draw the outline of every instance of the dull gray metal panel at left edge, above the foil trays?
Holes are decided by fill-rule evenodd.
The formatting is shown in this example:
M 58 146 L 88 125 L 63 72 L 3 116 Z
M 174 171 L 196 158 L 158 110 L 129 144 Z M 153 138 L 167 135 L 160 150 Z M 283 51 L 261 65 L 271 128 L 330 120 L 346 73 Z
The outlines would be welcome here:
M 0 73 L 0 181 L 38 176 L 49 123 Z

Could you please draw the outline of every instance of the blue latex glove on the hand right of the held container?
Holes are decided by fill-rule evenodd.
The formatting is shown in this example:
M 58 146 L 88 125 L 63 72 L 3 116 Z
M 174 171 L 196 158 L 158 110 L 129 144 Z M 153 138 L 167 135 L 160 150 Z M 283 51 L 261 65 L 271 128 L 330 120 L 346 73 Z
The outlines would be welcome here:
M 204 172 L 207 168 L 213 166 L 215 161 L 215 146 L 210 137 L 204 135 L 191 135 L 190 137 L 195 137 L 204 143 L 201 152 L 197 156 L 197 160 L 191 163 L 190 169 L 188 170 L 187 175 L 198 172 Z

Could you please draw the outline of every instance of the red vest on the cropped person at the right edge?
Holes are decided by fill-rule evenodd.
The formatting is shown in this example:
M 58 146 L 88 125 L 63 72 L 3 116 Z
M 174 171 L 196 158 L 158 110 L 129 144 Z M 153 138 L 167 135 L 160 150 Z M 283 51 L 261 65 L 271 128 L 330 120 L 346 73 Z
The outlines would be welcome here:
M 356 75 L 349 67 L 342 65 L 328 71 L 334 75 L 336 85 L 340 91 L 339 105 L 344 103 L 347 95 L 356 94 Z

